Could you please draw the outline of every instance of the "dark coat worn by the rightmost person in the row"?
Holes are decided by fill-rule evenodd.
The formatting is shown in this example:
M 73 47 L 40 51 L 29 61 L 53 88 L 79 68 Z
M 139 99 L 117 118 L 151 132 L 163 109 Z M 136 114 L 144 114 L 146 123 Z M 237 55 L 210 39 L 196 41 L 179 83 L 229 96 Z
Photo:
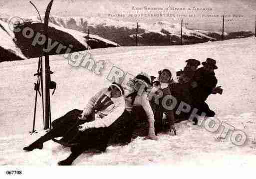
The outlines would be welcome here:
M 191 95 L 193 102 L 202 103 L 206 101 L 208 96 L 212 93 L 213 88 L 217 85 L 217 78 L 215 73 L 207 74 L 204 72 L 204 67 L 198 68 L 194 74 L 192 82 L 197 82 L 196 88 L 191 88 Z

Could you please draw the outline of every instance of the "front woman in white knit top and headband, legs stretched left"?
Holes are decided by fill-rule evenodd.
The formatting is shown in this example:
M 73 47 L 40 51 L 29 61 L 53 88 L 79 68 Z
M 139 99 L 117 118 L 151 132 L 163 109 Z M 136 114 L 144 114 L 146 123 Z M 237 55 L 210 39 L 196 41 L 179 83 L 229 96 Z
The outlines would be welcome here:
M 112 124 L 122 120 L 120 116 L 125 110 L 123 94 L 123 88 L 117 83 L 112 83 L 109 88 L 103 88 L 89 100 L 83 111 L 74 109 L 54 120 L 53 128 L 48 133 L 24 147 L 23 150 L 42 149 L 44 142 L 64 135 L 72 139 L 77 135 L 77 127 L 80 125 L 79 130 L 84 131 L 82 132 L 83 137 L 81 137 L 82 145 L 78 146 L 78 149 L 71 147 L 71 151 L 74 151 L 75 148 L 76 152 L 72 152 L 70 157 L 59 162 L 59 165 L 71 165 L 73 160 L 89 148 L 104 152 L 112 132 Z

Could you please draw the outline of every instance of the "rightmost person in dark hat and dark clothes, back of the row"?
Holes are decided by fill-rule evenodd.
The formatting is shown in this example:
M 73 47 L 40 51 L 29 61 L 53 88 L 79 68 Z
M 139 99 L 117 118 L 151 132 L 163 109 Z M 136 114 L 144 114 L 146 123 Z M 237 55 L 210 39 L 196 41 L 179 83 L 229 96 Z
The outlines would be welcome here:
M 209 108 L 205 101 L 217 85 L 218 80 L 215 77 L 214 70 L 218 67 L 216 66 L 216 60 L 212 58 L 207 58 L 206 61 L 202 62 L 202 65 L 203 67 L 195 71 L 192 79 L 192 103 L 193 107 L 199 110 L 197 114 L 205 112 L 206 116 L 213 117 L 215 112 Z M 195 120 L 195 123 L 197 123 L 197 120 Z

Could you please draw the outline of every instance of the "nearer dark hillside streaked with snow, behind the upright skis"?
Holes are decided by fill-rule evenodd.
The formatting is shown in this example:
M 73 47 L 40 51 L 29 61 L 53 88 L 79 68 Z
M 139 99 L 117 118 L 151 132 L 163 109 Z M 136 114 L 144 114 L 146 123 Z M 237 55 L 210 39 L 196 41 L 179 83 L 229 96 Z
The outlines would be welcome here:
M 40 25 L 42 25 L 39 23 L 39 20 L 37 19 L 36 16 L 32 16 L 29 18 L 27 17 L 21 17 L 21 18 L 24 20 L 25 22 L 24 25 L 26 27 L 30 27 L 35 31 L 38 30 L 37 28 L 40 28 Z M 30 39 L 31 41 L 30 42 L 29 39 L 25 38 L 22 35 L 22 31 L 20 33 L 14 34 L 13 31 L 10 30 L 8 26 L 8 21 L 10 20 L 10 18 L 9 19 L 0 18 L 0 19 L 4 20 L 4 21 L 0 20 L 0 38 L 1 38 L 0 48 L 8 50 L 5 53 L 15 54 L 21 59 L 39 56 L 40 54 L 39 47 L 34 47 L 31 45 L 33 38 Z M 89 34 L 89 39 L 87 41 L 86 33 L 82 33 L 80 31 L 73 30 L 73 29 L 64 28 L 64 27 L 55 25 L 53 23 L 49 23 L 49 27 L 53 27 L 49 29 L 50 33 L 55 34 L 53 35 L 53 37 L 50 36 L 53 40 L 56 40 L 58 42 L 59 41 L 63 42 L 63 44 L 66 46 L 68 46 L 69 44 L 72 44 L 73 45 L 72 50 L 74 51 L 85 50 L 88 47 L 93 49 L 93 48 L 106 48 L 106 47 L 119 46 L 119 44 L 115 42 L 102 38 L 98 35 L 93 35 L 91 33 Z M 54 53 L 55 51 L 56 50 L 53 49 L 50 52 L 50 54 L 51 53 L 56 54 Z M 64 53 L 64 52 L 65 50 L 62 50 L 60 53 Z M 2 54 L 1 56 L 3 57 L 0 61 L 16 60 L 16 58 L 9 57 L 5 54 Z

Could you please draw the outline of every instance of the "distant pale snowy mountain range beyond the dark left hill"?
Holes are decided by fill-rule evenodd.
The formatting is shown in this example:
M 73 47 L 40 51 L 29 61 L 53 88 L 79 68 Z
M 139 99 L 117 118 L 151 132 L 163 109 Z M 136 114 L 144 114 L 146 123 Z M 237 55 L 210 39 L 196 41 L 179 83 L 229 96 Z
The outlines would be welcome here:
M 38 20 L 38 17 L 29 17 Z M 122 46 L 135 45 L 136 23 L 101 17 L 51 16 L 50 22 L 64 28 L 97 34 Z M 153 24 L 139 22 L 139 45 L 175 45 L 180 44 L 181 24 L 169 21 L 157 21 Z M 194 44 L 221 40 L 222 32 L 189 29 L 183 26 L 183 44 Z M 251 31 L 224 33 L 225 39 L 252 36 Z

